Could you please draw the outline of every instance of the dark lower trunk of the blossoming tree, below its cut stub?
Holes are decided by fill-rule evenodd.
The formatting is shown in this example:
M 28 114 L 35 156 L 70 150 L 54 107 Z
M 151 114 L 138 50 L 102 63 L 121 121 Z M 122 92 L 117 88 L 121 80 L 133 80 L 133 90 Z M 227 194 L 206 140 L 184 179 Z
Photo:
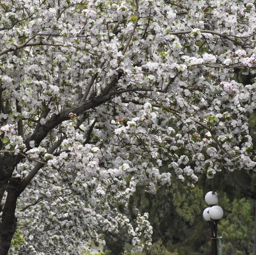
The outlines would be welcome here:
M 0 255 L 7 255 L 12 236 L 17 227 L 15 217 L 16 201 L 20 195 L 20 178 L 11 178 L 7 187 L 7 197 L 0 222 Z

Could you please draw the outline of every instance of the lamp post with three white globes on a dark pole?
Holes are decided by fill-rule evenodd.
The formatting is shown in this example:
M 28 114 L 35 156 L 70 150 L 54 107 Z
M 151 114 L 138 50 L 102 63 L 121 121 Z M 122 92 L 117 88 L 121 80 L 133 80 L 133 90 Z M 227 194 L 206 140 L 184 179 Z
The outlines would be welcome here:
M 203 217 L 206 221 L 210 221 L 212 255 L 217 255 L 217 223 L 223 216 L 223 210 L 220 206 L 216 206 L 218 203 L 218 194 L 216 192 L 208 192 L 204 199 L 210 207 L 204 209 Z

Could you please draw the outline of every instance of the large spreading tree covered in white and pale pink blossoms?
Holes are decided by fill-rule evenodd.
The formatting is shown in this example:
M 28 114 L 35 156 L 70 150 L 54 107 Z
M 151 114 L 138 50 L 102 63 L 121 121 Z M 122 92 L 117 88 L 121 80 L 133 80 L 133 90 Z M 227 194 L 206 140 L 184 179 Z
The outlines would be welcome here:
M 234 79 L 254 74 L 252 1 L 1 0 L 0 14 L 0 255 L 17 228 L 12 254 L 78 254 L 120 228 L 150 247 L 148 215 L 116 209 L 138 182 L 254 169 L 255 84 Z

